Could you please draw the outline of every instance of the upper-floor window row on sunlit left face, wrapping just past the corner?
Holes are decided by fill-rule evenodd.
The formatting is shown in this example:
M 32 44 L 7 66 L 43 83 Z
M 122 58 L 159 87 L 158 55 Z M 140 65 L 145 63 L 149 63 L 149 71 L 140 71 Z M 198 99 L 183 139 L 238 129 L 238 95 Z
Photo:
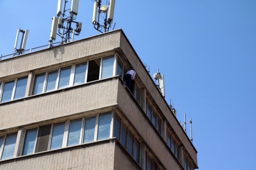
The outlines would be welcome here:
M 114 70 L 115 62 L 116 69 Z M 118 56 L 111 55 L 38 73 L 35 75 L 32 95 L 109 78 L 115 75 L 123 77 L 123 74 L 126 73 L 123 70 L 127 72 L 121 59 Z M 27 81 L 28 76 L 0 82 L 0 102 L 25 97 Z M 137 93 L 135 96 L 137 96 Z

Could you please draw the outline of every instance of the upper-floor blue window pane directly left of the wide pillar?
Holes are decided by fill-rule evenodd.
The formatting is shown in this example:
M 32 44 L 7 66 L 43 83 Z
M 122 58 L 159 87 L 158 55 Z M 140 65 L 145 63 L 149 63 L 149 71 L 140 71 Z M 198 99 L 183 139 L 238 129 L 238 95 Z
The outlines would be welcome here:
M 16 89 L 15 89 L 15 94 L 14 94 L 14 99 L 19 99 L 19 98 L 25 97 L 27 82 L 28 82 L 28 76 L 18 78 L 17 84 L 16 84 Z

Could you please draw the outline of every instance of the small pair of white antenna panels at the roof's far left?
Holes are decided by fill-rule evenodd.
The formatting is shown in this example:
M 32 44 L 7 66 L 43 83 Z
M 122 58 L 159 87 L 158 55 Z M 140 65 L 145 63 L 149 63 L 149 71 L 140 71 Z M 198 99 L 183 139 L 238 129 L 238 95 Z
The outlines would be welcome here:
M 20 48 L 17 49 L 17 44 L 18 44 L 18 39 L 19 39 L 19 33 L 20 32 L 22 32 L 22 38 L 21 38 L 21 41 L 20 41 Z M 25 47 L 26 47 L 27 38 L 28 38 L 28 30 L 27 29 L 25 31 L 21 30 L 21 29 L 17 30 L 16 40 L 15 40 L 15 44 L 14 44 L 14 54 L 13 54 L 13 56 L 15 56 L 15 54 L 20 55 L 24 52 Z

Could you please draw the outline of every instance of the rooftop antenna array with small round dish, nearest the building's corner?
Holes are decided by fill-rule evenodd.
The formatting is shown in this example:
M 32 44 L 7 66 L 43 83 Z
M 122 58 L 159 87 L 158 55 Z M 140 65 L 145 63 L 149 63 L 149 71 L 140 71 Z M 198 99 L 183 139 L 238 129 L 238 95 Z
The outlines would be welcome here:
M 106 4 L 103 5 L 101 0 L 94 1 L 92 24 L 96 30 L 103 33 L 103 29 L 104 32 L 107 32 L 109 31 L 109 28 L 111 28 L 111 24 L 113 23 L 115 1 L 116 0 L 106 0 Z M 104 19 L 103 24 L 100 24 L 100 16 Z M 115 24 L 113 29 L 115 28 Z

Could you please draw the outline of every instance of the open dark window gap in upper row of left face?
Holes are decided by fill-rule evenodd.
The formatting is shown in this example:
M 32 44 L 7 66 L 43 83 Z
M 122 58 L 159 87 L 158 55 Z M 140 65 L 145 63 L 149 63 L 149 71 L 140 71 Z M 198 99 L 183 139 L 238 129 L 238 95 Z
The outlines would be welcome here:
M 87 82 L 99 80 L 100 58 L 89 61 Z

